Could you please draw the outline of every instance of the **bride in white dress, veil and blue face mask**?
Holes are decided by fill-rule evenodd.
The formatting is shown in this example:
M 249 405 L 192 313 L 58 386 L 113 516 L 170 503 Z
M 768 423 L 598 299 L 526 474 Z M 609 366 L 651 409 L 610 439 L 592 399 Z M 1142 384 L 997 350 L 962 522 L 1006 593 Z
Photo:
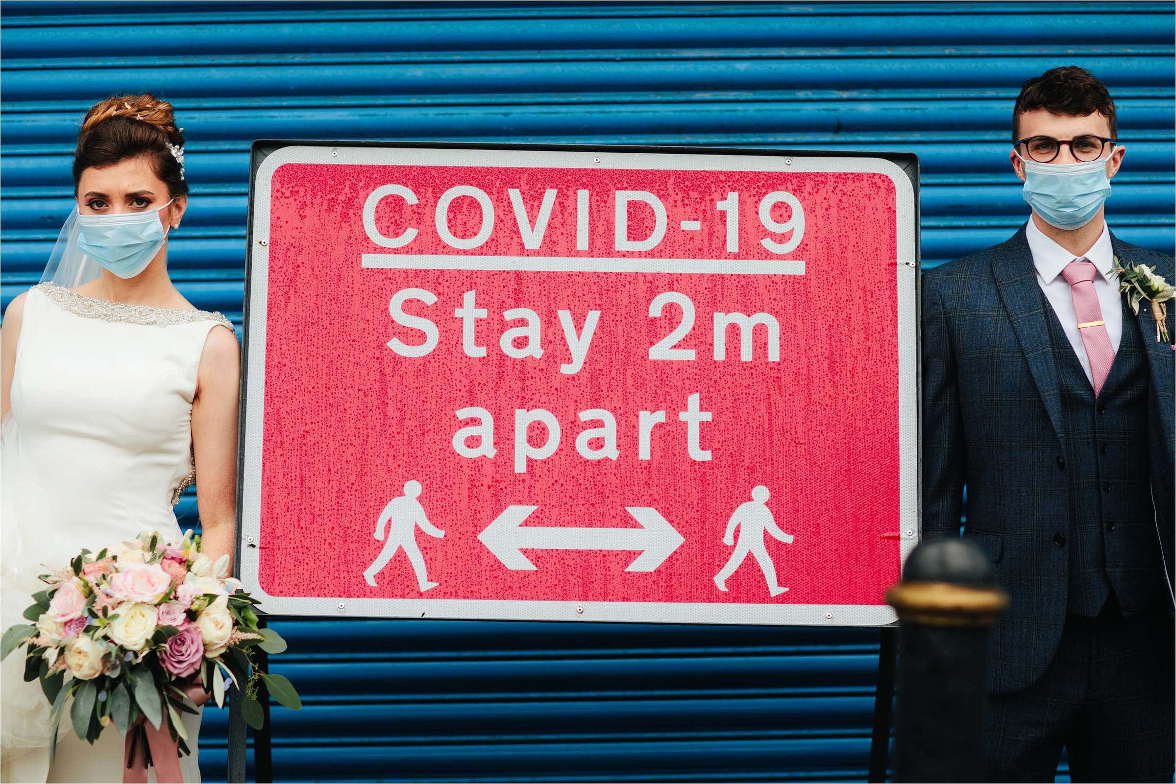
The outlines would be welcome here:
M 22 623 L 40 590 L 40 564 L 60 567 L 82 548 L 133 540 L 143 529 L 179 537 L 173 507 L 198 476 L 205 551 L 213 559 L 233 552 L 236 334 L 219 313 L 195 309 L 167 274 L 167 239 L 188 202 L 182 130 L 171 103 L 149 94 L 89 109 L 73 162 L 76 205 L 41 282 L 5 313 L 5 629 Z M 24 682 L 19 652 L 0 666 L 5 782 L 147 780 L 141 766 L 125 768 L 113 728 L 89 746 L 62 722 L 49 765 L 48 701 L 36 681 Z M 207 699 L 202 691 L 192 696 Z M 183 721 L 192 755 L 179 772 L 199 782 L 200 717 Z M 152 749 L 174 749 L 166 729 L 147 729 Z M 160 778 L 179 780 L 174 768 L 159 765 Z

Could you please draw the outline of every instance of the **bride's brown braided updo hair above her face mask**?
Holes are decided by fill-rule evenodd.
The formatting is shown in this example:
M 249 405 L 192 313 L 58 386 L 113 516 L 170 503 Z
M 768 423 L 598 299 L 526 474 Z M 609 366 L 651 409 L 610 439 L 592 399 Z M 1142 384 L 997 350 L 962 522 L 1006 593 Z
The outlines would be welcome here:
M 185 196 L 188 183 L 183 179 L 183 163 L 176 156 L 182 158 L 182 147 L 183 128 L 175 125 L 171 103 L 151 93 L 112 95 L 92 106 L 82 120 L 74 152 L 74 195 L 81 173 L 89 167 L 145 156 L 155 176 L 167 185 L 168 196 Z

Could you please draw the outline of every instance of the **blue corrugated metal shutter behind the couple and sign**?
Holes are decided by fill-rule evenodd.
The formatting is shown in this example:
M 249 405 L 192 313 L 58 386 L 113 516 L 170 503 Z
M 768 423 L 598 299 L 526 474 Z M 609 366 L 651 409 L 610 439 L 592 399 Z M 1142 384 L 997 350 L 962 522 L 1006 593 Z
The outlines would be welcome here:
M 2 300 L 36 282 L 85 109 L 176 105 L 192 206 L 171 270 L 240 321 L 248 146 L 261 138 L 907 150 L 923 263 L 1005 239 L 1013 99 L 1057 65 L 1102 78 L 1128 146 L 1109 221 L 1171 252 L 1170 2 L 5 2 Z M 195 496 L 181 511 L 195 522 Z M 877 631 L 300 621 L 274 670 L 275 777 L 854 780 Z M 225 718 L 202 733 L 225 778 Z

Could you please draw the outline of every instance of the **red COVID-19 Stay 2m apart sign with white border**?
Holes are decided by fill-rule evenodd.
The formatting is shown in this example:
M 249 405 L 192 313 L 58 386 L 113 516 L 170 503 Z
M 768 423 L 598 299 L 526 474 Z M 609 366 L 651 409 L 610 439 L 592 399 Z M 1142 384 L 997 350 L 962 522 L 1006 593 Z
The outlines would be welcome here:
M 290 145 L 256 168 L 270 612 L 877 624 L 917 541 L 881 158 Z

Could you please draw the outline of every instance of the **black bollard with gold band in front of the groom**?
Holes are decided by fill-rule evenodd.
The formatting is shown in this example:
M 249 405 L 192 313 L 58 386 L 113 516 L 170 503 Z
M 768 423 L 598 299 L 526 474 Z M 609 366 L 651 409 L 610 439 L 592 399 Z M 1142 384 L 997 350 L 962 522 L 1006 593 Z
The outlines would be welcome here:
M 960 538 L 920 544 L 887 592 L 898 612 L 896 782 L 984 780 L 988 631 L 1008 597 Z

